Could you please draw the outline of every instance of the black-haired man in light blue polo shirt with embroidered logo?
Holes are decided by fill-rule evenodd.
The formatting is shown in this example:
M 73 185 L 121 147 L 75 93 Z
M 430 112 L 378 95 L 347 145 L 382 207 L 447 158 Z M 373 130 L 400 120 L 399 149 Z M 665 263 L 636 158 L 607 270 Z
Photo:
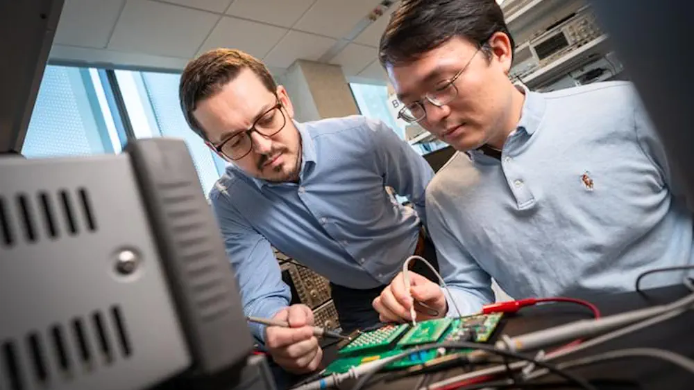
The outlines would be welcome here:
M 491 278 L 515 299 L 619 292 L 648 269 L 694 262 L 691 212 L 632 86 L 517 88 L 513 51 L 494 0 L 411 0 L 393 13 L 380 61 L 400 116 L 459 152 L 426 197 L 452 296 L 417 275 L 408 292 L 397 276 L 373 302 L 384 320 L 411 319 L 409 293 L 469 314 L 494 301 Z

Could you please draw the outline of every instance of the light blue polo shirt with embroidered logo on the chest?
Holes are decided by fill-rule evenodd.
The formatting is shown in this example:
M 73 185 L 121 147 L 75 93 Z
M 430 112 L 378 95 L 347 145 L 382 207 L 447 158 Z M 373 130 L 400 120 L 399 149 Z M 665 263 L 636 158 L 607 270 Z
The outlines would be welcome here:
M 692 215 L 678 195 L 631 85 L 606 82 L 525 91 L 501 161 L 458 152 L 426 206 L 452 299 L 476 312 L 494 300 L 490 277 L 521 299 L 634 290 L 641 272 L 694 263 Z M 652 274 L 643 287 L 682 277 Z

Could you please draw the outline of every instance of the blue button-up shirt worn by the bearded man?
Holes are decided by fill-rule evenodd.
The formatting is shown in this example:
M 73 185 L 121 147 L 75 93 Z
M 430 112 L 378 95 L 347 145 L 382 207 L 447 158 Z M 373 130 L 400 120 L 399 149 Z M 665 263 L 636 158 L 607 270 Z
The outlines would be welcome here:
M 269 183 L 230 166 L 210 192 L 248 316 L 273 317 L 289 304 L 271 245 L 333 283 L 368 289 L 397 274 L 425 219 L 434 172 L 387 125 L 349 116 L 297 127 L 298 184 Z M 264 339 L 260 326 L 251 330 Z

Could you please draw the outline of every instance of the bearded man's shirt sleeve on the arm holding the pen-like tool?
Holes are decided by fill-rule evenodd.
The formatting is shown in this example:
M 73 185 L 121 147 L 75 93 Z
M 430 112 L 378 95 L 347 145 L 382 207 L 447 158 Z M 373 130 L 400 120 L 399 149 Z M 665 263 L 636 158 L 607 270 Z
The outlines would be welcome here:
M 289 286 L 282 281 L 280 265 L 270 242 L 248 224 L 226 196 L 218 193 L 210 196 L 210 200 L 224 239 L 226 255 L 241 290 L 244 314 L 271 318 L 289 305 Z M 265 341 L 264 326 L 257 323 L 248 326 L 255 337 Z

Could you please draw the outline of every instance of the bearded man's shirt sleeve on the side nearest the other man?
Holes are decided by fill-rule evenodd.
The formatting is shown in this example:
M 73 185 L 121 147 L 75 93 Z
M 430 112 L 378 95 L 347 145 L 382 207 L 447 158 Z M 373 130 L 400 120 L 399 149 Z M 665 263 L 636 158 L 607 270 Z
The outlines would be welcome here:
M 398 195 L 407 197 L 422 223 L 426 224 L 425 192 L 434 177 L 434 170 L 388 125 L 369 118 L 366 123 L 373 132 L 376 162 L 385 185 L 393 187 Z

